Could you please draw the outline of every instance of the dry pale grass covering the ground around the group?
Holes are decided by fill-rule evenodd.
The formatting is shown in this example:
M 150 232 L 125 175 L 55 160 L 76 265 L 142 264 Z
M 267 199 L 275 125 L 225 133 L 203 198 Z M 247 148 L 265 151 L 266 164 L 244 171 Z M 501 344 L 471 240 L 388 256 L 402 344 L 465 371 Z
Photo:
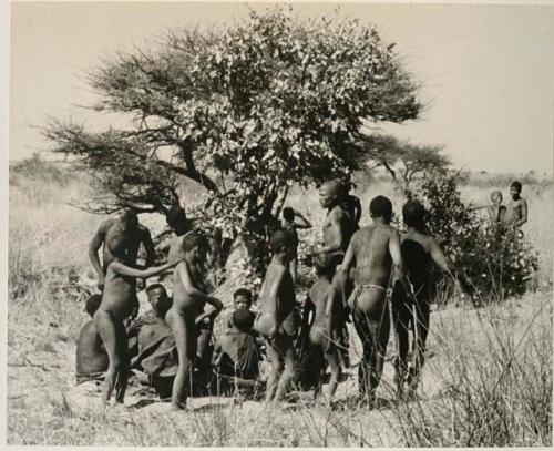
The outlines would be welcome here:
M 24 188 L 24 189 L 23 189 Z M 464 196 L 486 199 L 488 187 L 465 186 Z M 552 271 L 552 186 L 531 195 L 530 239 Z M 71 269 L 88 270 L 86 243 L 102 217 L 68 206 L 86 194 L 82 181 L 59 183 L 20 175 L 10 191 L 10 289 L 8 330 L 8 442 L 64 445 L 551 445 L 552 293 L 526 295 L 484 309 L 449 307 L 432 315 L 421 399 L 396 404 L 387 362 L 373 411 L 348 406 L 355 378 L 342 382 L 338 408 L 302 397 L 296 404 L 266 408 L 229 399 L 191 400 L 172 414 L 166 404 L 103 409 L 100 397 L 78 402 L 73 388 L 74 344 L 86 321 L 83 306 L 55 291 Z M 402 199 L 390 183 L 370 184 L 363 205 L 384 194 Z M 314 192 L 290 203 L 318 224 Z M 367 221 L 367 215 L 363 218 Z M 156 218 L 145 221 L 160 226 Z M 57 269 L 58 268 L 58 269 Z M 353 336 L 355 334 L 352 334 Z M 358 344 L 353 339 L 353 353 Z M 393 340 L 389 344 L 393 353 Z M 356 361 L 356 356 L 352 356 Z M 352 376 L 353 376 L 353 371 Z M 455 388 L 455 390 L 453 390 Z M 137 403 L 138 402 L 138 403 Z

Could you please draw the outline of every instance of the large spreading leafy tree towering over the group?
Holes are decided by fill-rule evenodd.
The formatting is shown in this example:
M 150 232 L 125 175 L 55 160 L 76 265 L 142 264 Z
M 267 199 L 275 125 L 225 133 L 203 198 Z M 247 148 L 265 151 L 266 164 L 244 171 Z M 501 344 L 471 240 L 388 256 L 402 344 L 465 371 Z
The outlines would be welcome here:
M 362 123 L 420 111 L 416 85 L 376 29 L 302 22 L 279 8 L 250 11 L 220 34 L 183 30 L 155 49 L 117 54 L 90 84 L 99 112 L 132 124 L 45 127 L 53 150 L 95 180 L 99 194 L 83 207 L 163 213 L 188 178 L 204 187 L 195 199 L 204 224 L 233 236 L 249 217 L 274 216 L 289 186 L 355 170 Z

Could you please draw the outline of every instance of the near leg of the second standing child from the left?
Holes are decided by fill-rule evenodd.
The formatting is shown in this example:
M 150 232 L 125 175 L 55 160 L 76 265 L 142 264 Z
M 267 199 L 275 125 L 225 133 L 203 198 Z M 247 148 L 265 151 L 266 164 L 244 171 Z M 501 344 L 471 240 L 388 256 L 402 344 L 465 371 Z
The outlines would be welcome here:
M 187 328 L 186 319 L 178 312 L 170 310 L 165 316 L 165 320 L 175 337 L 178 355 L 178 368 L 173 381 L 171 408 L 172 410 L 181 410 L 186 407 L 186 383 L 191 367 L 189 340 L 192 337 L 189 337 L 191 331 Z

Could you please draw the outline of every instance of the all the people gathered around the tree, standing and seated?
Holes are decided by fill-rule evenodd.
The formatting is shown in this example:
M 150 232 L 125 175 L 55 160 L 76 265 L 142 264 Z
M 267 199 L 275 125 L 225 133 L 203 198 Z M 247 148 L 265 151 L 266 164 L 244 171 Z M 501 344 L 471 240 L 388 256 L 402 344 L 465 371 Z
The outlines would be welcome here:
M 495 222 L 519 226 L 526 221 L 521 184 L 512 184 L 512 203 L 503 207 L 493 199 L 488 206 Z M 429 235 L 422 204 L 410 201 L 402 207 L 406 233 L 390 225 L 390 199 L 375 197 L 369 205 L 371 224 L 359 227 L 360 201 L 349 186 L 330 181 L 319 187 L 326 211 L 322 244 L 312 248 L 317 280 L 309 288 L 302 308 L 296 299 L 298 228 L 311 224 L 293 208 L 285 208 L 280 228 L 271 233 L 270 263 L 252 310 L 254 294 L 240 288 L 234 294 L 234 311 L 214 336 L 215 318 L 224 306 L 207 294 L 205 264 L 207 238 L 191 229 L 184 211 L 170 212 L 174 232 L 166 264 L 152 266 L 155 248 L 147 228 L 133 212 L 104 222 L 93 237 L 89 254 L 102 294 L 86 303 L 92 320 L 78 342 L 78 382 L 104 379 L 103 400 L 123 402 L 127 379 L 154 387 L 171 408 L 186 407 L 187 396 L 230 391 L 265 393 L 266 401 L 279 401 L 299 372 L 298 339 L 307 338 L 316 356 L 315 394 L 322 393 L 327 367 L 330 379 L 326 399 L 332 399 L 348 361 L 348 328 L 351 321 L 362 344 L 358 365 L 360 401 L 372 406 L 382 375 L 391 327 L 397 344 L 396 383 L 399 398 L 417 390 L 429 332 L 432 273 L 437 265 L 454 279 L 447 257 Z M 146 252 L 145 266 L 136 264 L 140 245 Z M 103 246 L 102 264 L 98 250 Z M 152 311 L 137 317 L 137 279 L 171 275 L 172 297 L 165 286 L 146 287 Z M 411 362 L 409 341 L 412 337 Z M 269 363 L 266 381 L 259 362 Z M 214 391 L 215 390 L 215 391 Z

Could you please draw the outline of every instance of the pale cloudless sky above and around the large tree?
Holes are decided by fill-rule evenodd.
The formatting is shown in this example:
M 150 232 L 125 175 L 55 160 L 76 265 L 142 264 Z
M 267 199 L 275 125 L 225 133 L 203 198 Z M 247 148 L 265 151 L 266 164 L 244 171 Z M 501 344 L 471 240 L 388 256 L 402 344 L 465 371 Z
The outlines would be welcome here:
M 304 19 L 335 8 L 295 3 L 294 11 Z M 245 3 L 230 2 L 11 3 L 10 160 L 49 148 L 37 129 L 49 117 L 116 125 L 80 106 L 94 101 L 85 74 L 103 58 L 166 29 L 246 16 Z M 456 167 L 553 172 L 554 7 L 347 3 L 339 16 L 376 24 L 421 84 L 421 117 L 382 132 L 443 145 Z

